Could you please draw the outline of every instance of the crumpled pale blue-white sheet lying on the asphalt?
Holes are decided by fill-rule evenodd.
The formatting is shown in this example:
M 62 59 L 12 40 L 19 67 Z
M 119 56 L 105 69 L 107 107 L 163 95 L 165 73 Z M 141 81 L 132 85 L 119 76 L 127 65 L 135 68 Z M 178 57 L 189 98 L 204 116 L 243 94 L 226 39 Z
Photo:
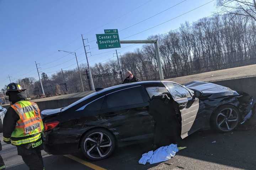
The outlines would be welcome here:
M 177 145 L 174 144 L 162 146 L 156 149 L 154 152 L 149 151 L 148 153 L 144 153 L 142 158 L 139 160 L 139 164 L 145 165 L 147 162 L 150 164 L 164 162 L 174 157 L 178 151 Z

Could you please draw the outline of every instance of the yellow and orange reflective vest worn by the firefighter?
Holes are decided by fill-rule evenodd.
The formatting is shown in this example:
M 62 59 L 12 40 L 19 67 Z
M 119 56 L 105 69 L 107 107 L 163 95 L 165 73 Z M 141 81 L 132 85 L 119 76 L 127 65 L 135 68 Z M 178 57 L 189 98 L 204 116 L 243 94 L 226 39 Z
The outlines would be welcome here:
M 19 101 L 11 107 L 19 115 L 14 131 L 11 134 L 12 145 L 22 145 L 41 138 L 43 122 L 36 103 Z

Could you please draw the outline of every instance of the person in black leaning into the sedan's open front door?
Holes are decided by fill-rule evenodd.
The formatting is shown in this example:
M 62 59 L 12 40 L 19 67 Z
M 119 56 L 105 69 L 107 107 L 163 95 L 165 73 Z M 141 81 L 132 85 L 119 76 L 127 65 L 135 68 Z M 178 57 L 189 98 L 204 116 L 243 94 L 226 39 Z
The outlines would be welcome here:
M 170 94 L 163 93 L 151 98 L 149 114 L 155 120 L 153 149 L 177 143 L 180 126 L 175 108 L 176 102 Z

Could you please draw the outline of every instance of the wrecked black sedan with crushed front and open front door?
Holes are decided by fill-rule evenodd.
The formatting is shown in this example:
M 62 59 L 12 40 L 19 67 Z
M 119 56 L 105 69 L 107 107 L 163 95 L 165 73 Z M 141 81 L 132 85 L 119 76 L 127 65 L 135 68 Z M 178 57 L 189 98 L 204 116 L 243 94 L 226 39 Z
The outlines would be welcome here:
M 232 131 L 254 113 L 252 96 L 212 83 L 193 81 L 182 86 L 171 81 L 142 81 L 117 85 L 92 92 L 67 107 L 42 111 L 44 149 L 49 154 L 81 150 L 87 158 L 100 160 L 117 146 L 152 138 L 149 100 L 166 92 L 179 106 L 181 138 L 199 129 Z

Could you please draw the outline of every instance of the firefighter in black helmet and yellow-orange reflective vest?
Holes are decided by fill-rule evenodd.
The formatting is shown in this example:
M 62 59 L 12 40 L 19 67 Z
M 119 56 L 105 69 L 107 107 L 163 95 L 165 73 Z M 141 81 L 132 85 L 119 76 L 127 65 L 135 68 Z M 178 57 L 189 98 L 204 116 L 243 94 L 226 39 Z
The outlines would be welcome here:
M 41 155 L 43 122 L 36 103 L 26 101 L 19 84 L 10 83 L 6 95 L 11 106 L 7 109 L 3 123 L 4 142 L 15 145 L 30 170 L 44 170 Z

